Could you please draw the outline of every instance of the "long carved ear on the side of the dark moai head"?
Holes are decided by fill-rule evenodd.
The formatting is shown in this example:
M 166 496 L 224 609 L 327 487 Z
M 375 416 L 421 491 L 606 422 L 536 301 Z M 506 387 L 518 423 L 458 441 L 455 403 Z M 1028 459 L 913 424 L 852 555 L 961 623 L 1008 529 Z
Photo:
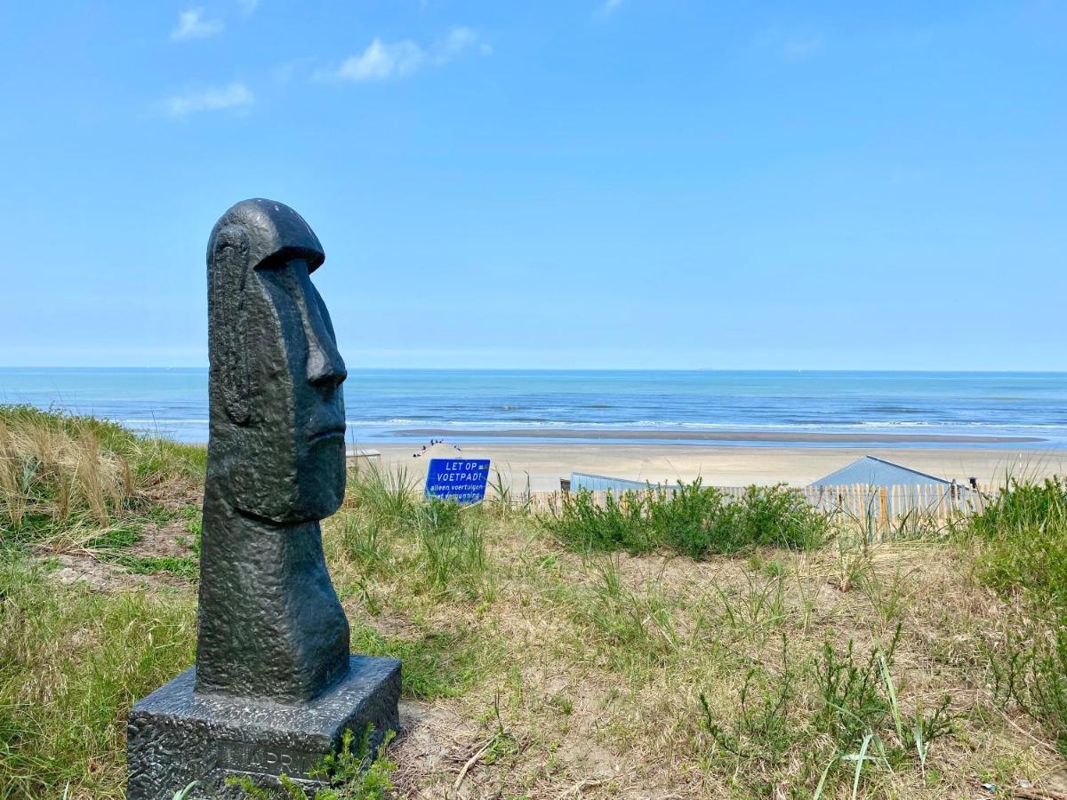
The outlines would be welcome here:
M 243 226 L 227 225 L 214 237 L 208 266 L 208 349 L 221 381 L 226 414 L 237 425 L 249 421 L 249 351 L 245 347 L 249 236 Z

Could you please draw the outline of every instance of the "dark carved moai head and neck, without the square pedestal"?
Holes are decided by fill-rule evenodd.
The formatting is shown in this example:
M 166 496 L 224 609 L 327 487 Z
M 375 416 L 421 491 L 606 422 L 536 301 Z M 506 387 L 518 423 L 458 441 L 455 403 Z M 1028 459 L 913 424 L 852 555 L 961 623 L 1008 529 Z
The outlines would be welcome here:
M 348 663 L 319 541 L 345 497 L 345 362 L 309 277 L 323 259 L 273 201 L 238 203 L 208 241 L 197 691 L 308 700 Z

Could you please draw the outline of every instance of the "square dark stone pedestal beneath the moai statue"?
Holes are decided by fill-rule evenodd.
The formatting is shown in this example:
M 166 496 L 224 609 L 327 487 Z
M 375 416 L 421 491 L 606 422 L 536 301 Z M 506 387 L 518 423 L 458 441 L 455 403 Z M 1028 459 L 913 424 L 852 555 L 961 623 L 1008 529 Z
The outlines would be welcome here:
M 129 800 L 171 800 L 193 781 L 193 798 L 239 797 L 229 775 L 280 786 L 285 774 L 321 786 L 308 771 L 335 751 L 346 730 L 368 723 L 377 747 L 399 725 L 400 661 L 351 656 L 348 674 L 323 694 L 292 705 L 193 691 L 195 668 L 160 687 L 130 711 Z

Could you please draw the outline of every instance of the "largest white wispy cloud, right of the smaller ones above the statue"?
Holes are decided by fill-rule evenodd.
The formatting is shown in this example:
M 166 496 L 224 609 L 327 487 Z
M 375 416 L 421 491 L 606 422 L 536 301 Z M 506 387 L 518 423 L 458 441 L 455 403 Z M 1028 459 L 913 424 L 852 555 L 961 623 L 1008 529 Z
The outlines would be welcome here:
M 424 67 L 443 66 L 473 50 L 481 55 L 493 52 L 469 28 L 452 28 L 428 48 L 411 39 L 389 44 L 376 36 L 362 53 L 350 55 L 335 68 L 320 69 L 316 77 L 355 82 L 405 78 Z

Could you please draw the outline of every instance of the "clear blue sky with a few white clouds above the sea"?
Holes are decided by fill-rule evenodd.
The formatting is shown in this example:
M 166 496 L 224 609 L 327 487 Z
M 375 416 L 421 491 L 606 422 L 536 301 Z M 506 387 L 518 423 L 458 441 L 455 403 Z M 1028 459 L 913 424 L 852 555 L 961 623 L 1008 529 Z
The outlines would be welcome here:
M 350 367 L 1067 368 L 1064 2 L 6 2 L 0 45 L 0 365 L 206 364 L 265 196 Z

